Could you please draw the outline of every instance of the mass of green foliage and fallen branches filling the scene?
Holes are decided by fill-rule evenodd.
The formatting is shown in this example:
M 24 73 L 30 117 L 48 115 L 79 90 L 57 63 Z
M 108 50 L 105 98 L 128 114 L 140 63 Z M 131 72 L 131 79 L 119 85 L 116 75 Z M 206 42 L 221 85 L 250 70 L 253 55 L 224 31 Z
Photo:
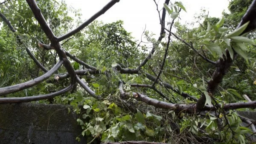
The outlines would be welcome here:
M 0 104 L 72 105 L 88 143 L 255 142 L 256 121 L 237 111 L 256 108 L 256 0 L 193 28 L 181 2 L 152 0 L 159 37 L 141 40 L 96 20 L 118 2 L 85 22 L 60 0 L 0 3 Z

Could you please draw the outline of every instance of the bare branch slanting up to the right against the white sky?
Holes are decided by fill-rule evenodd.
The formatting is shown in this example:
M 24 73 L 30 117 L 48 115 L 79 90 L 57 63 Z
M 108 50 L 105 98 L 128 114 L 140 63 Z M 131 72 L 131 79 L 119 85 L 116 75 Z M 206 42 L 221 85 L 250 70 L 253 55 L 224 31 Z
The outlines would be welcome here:
M 88 20 L 86 20 L 84 23 L 82 23 L 80 26 L 78 26 L 76 29 L 68 32 L 65 35 L 62 35 L 58 37 L 57 41 L 60 42 L 62 40 L 65 40 L 68 37 L 71 37 L 72 35 L 75 35 L 76 33 L 80 32 L 82 29 L 84 29 L 86 26 L 88 26 L 90 23 L 93 22 L 96 18 L 104 14 L 105 12 L 108 11 L 114 4 L 118 3 L 119 0 L 111 0 L 106 6 L 104 6 L 99 12 L 94 14 L 92 17 L 90 17 Z

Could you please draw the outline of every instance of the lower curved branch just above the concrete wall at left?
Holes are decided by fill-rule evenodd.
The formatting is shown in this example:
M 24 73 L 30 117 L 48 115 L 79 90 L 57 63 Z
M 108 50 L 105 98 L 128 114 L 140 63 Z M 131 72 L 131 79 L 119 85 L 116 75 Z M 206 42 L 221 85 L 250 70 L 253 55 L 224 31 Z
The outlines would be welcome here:
M 58 92 L 52 92 L 45 95 L 37 95 L 37 96 L 29 96 L 29 97 L 21 97 L 21 98 L 0 98 L 0 104 L 23 103 L 23 102 L 39 101 L 43 99 L 54 98 L 55 96 L 69 92 L 72 88 L 73 88 L 73 85 L 70 85 L 64 89 L 61 89 Z

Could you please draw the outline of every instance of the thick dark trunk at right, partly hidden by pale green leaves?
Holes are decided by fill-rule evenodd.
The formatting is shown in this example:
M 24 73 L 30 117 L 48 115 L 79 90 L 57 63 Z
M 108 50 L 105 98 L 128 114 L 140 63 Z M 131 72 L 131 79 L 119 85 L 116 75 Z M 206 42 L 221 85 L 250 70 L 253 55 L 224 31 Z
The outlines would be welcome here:
M 243 35 L 246 32 L 250 32 L 251 30 L 254 30 L 256 28 L 256 0 L 253 0 L 253 3 L 250 5 L 249 9 L 247 9 L 247 12 L 242 17 L 241 22 L 237 26 L 237 29 L 242 26 L 244 23 L 247 23 L 250 21 L 247 28 L 242 32 L 240 35 Z M 230 57 L 229 51 L 226 49 L 227 56 L 223 55 L 223 58 L 219 58 L 219 60 L 216 62 L 216 68 L 212 75 L 212 79 L 208 81 L 208 87 L 207 91 L 211 94 L 214 94 L 217 86 L 222 82 L 222 79 L 224 78 L 224 75 L 226 75 L 228 69 L 233 64 L 233 61 L 237 58 L 237 53 L 234 51 L 234 58 L 232 59 Z M 201 95 L 201 98 L 199 98 L 197 103 L 197 109 L 202 109 L 204 107 L 206 101 L 206 97 L 204 94 Z

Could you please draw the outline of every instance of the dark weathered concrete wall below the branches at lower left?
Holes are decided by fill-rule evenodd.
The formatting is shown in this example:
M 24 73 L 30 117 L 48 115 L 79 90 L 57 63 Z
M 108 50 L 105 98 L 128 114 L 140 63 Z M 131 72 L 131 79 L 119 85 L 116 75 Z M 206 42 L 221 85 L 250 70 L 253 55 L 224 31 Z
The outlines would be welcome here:
M 86 144 L 74 112 L 59 104 L 0 104 L 0 144 Z M 72 107 L 70 107 L 72 109 Z M 80 135 L 81 142 L 76 141 Z

